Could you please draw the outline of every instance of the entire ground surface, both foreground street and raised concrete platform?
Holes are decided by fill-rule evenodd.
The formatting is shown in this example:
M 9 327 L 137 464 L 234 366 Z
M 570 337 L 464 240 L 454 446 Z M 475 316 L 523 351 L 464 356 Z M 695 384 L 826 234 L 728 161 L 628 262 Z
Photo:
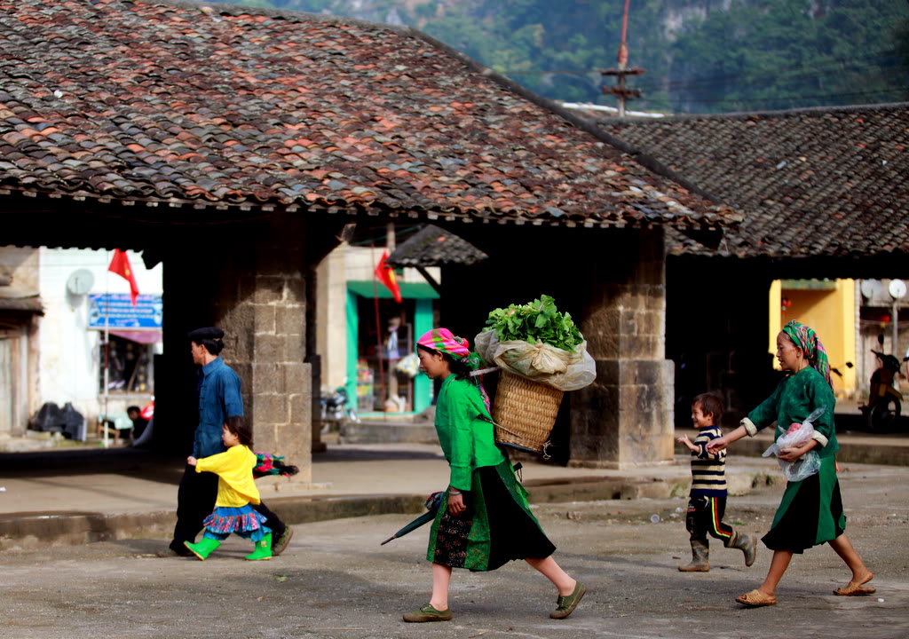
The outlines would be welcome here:
M 455 572 L 452 622 L 404 624 L 401 614 L 429 597 L 428 530 L 380 542 L 444 486 L 433 446 L 330 446 L 315 458 L 312 486 L 266 493 L 295 537 L 285 554 L 257 563 L 243 560 L 249 544 L 236 538 L 205 562 L 157 556 L 173 524 L 175 460 L 127 451 L 95 455 L 91 468 L 58 460 L 56 469 L 27 469 L 17 459 L 0 470 L 0 634 L 9 639 L 909 636 L 905 465 L 841 463 L 848 534 L 876 575 L 874 596 L 834 596 L 849 575 L 822 546 L 794 559 L 779 604 L 752 610 L 734 596 L 763 579 L 763 546 L 751 568 L 714 543 L 710 573 L 676 570 L 689 558 L 684 455 L 621 472 L 527 463 L 535 512 L 556 560 L 588 585 L 584 602 L 550 620 L 554 589 L 526 564 L 509 564 Z M 731 455 L 729 475 L 737 494 L 726 521 L 763 534 L 783 490 L 778 467 Z M 30 532 L 16 534 L 16 525 Z M 87 528 L 66 532 L 73 525 Z M 85 543 L 92 539 L 105 541 Z

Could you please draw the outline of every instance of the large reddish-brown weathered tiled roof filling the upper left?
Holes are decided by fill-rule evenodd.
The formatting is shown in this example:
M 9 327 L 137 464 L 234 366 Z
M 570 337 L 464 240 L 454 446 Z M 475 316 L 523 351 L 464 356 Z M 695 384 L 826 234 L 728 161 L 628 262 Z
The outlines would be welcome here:
M 737 219 L 609 139 L 410 29 L 236 5 L 0 0 L 0 193 L 203 218 L 226 206 Z

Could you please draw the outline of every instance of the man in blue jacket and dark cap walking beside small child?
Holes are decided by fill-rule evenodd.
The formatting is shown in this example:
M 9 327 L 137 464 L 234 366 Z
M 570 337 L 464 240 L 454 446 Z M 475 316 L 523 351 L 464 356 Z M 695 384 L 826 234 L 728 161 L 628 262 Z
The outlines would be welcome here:
M 240 394 L 240 377 L 225 364 L 219 354 L 224 349 L 224 331 L 215 326 L 197 328 L 187 336 L 193 363 L 199 369 L 199 423 L 193 438 L 193 456 L 197 459 L 223 453 L 226 448 L 221 440 L 221 427 L 230 417 L 243 417 L 243 397 Z M 180 488 L 177 491 L 176 525 L 170 550 L 175 554 L 192 555 L 184 542 L 195 542 L 195 535 L 203 529 L 205 517 L 215 508 L 218 476 L 213 473 L 196 473 L 186 465 Z M 281 554 L 294 534 L 265 504 L 255 505 L 255 510 L 265 515 L 265 523 L 272 530 L 272 554 Z

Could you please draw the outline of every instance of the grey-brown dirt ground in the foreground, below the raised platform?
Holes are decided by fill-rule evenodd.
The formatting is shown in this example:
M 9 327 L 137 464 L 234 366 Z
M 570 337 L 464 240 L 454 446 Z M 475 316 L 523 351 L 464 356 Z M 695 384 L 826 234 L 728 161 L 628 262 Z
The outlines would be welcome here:
M 494 573 L 456 571 L 454 620 L 404 624 L 428 601 L 427 529 L 379 545 L 411 519 L 377 515 L 295 526 L 285 554 L 245 562 L 231 538 L 205 562 L 161 558 L 163 539 L 0 554 L 0 624 L 6 639 L 239 637 L 863 637 L 909 636 L 909 469 L 846 465 L 848 534 L 874 571 L 878 592 L 838 597 L 844 564 L 826 547 L 796 556 L 779 604 L 744 609 L 734 597 L 764 578 L 761 546 L 746 568 L 739 551 L 711 545 L 713 569 L 682 574 L 689 558 L 683 498 L 544 504 L 541 523 L 556 560 L 588 585 L 577 611 L 548 618 L 555 592 L 524 563 Z M 782 484 L 731 497 L 726 521 L 763 534 Z M 533 496 L 533 495 L 531 495 Z M 652 523 L 653 515 L 658 523 Z M 655 519 L 655 518 L 654 518 Z

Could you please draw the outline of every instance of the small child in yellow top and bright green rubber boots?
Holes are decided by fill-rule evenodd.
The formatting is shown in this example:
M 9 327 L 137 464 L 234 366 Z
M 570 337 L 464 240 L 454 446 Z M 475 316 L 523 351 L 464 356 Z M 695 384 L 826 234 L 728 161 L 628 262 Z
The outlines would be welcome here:
M 272 532 L 265 527 L 265 517 L 251 504 L 259 503 L 259 490 L 253 481 L 257 464 L 253 433 L 243 417 L 230 417 L 222 426 L 221 438 L 227 446 L 224 453 L 202 459 L 190 456 L 186 463 L 195 466 L 196 473 L 218 475 L 218 496 L 215 512 L 205 517 L 205 534 L 198 544 L 184 542 L 195 556 L 205 561 L 231 533 L 250 539 L 255 551 L 247 554 L 249 561 L 272 558 Z

